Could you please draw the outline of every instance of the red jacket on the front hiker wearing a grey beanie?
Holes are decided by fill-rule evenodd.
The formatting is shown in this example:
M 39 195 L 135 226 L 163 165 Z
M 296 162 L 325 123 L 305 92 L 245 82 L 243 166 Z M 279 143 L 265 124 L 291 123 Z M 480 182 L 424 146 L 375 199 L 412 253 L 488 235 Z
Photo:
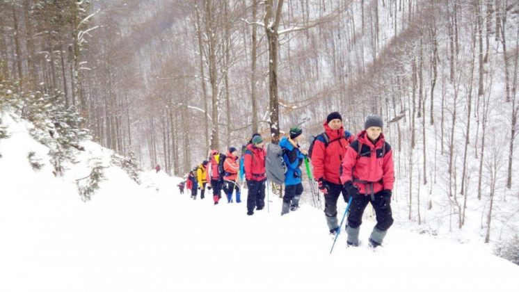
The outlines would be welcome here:
M 358 143 L 362 143 L 362 149 L 358 156 Z M 385 151 L 382 147 L 385 147 Z M 394 184 L 393 152 L 389 143 L 385 143 L 384 135 L 373 145 L 367 138 L 366 131 L 358 133 L 357 140 L 351 143 L 346 157 L 342 161 L 341 181 L 353 181 L 358 186 L 359 193 L 370 194 L 366 190 L 366 184 L 356 182 L 355 179 L 373 182 L 374 193 L 381 190 L 392 190 Z

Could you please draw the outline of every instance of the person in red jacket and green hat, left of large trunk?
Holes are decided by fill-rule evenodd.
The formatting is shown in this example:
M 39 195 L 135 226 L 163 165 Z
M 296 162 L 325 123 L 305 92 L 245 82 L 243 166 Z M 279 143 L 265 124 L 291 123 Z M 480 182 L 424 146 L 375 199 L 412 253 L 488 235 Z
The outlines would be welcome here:
M 265 156 L 266 151 L 262 136 L 254 136 L 252 143 L 247 145 L 245 151 L 245 178 L 247 180 L 247 215 L 254 214 L 256 210 L 262 210 L 265 206 Z

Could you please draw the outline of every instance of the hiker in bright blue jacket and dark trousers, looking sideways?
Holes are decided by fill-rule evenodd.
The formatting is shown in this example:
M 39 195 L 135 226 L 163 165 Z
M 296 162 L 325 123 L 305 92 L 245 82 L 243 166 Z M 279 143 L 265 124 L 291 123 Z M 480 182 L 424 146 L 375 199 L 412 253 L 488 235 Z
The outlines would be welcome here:
M 283 137 L 279 143 L 283 152 L 283 161 L 287 165 L 285 195 L 283 196 L 281 215 L 285 215 L 289 211 L 296 211 L 299 207 L 299 198 L 303 193 L 300 167 L 307 152 L 302 150 L 298 144 L 303 139 L 301 133 L 303 133 L 303 130 L 299 129 L 299 127 L 292 127 L 290 128 L 289 138 Z

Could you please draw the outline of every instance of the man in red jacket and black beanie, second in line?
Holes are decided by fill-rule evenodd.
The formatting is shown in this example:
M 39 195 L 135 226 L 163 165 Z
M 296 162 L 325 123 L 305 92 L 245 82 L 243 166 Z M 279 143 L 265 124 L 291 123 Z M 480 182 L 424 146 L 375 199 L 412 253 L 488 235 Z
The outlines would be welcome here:
M 350 141 L 344 134 L 340 113 L 333 112 L 323 124 L 324 133 L 317 136 L 312 150 L 313 175 L 324 193 L 324 214 L 330 234 L 339 231 L 337 222 L 337 200 L 342 193 L 346 201 L 346 190 L 342 188 L 339 170 Z M 326 136 L 324 136 L 326 134 Z

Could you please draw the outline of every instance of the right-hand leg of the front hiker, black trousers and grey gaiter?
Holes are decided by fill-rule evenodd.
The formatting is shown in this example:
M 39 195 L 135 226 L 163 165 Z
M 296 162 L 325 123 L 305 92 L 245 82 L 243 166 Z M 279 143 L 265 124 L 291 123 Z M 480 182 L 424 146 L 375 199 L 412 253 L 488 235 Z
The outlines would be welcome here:
M 369 243 L 376 247 L 382 244 L 385 234 L 388 233 L 388 229 L 393 224 L 391 196 L 385 195 L 382 192 L 376 193 L 372 206 L 375 210 L 376 225 L 371 236 L 369 236 Z

